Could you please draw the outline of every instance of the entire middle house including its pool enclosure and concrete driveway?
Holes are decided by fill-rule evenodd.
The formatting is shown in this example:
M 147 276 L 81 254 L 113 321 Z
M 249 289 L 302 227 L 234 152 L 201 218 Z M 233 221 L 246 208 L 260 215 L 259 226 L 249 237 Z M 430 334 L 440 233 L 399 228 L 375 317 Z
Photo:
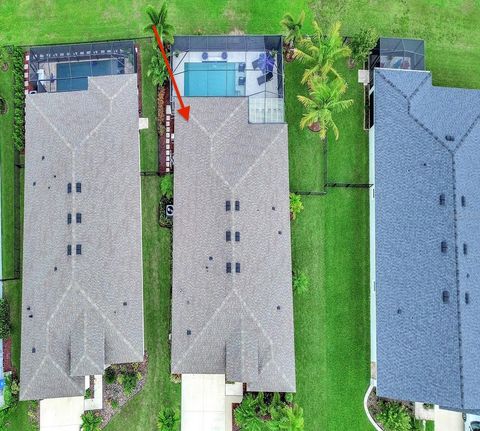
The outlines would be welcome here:
M 281 47 L 278 36 L 175 38 L 180 91 L 197 96 L 184 100 L 190 121 L 175 124 L 172 373 L 183 374 L 183 431 L 228 428 L 226 382 L 295 391 Z

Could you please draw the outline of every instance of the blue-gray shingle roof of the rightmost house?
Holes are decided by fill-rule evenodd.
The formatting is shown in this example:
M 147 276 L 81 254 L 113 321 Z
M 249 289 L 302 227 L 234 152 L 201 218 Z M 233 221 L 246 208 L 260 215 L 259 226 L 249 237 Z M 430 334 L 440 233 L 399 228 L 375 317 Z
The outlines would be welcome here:
M 480 91 L 377 69 L 374 97 L 378 394 L 478 410 Z

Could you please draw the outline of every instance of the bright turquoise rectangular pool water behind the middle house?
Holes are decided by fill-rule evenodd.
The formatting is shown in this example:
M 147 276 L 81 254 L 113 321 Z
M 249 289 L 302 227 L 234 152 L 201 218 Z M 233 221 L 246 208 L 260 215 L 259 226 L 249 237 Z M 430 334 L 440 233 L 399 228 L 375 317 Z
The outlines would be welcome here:
M 238 63 L 185 63 L 184 96 L 236 96 Z

